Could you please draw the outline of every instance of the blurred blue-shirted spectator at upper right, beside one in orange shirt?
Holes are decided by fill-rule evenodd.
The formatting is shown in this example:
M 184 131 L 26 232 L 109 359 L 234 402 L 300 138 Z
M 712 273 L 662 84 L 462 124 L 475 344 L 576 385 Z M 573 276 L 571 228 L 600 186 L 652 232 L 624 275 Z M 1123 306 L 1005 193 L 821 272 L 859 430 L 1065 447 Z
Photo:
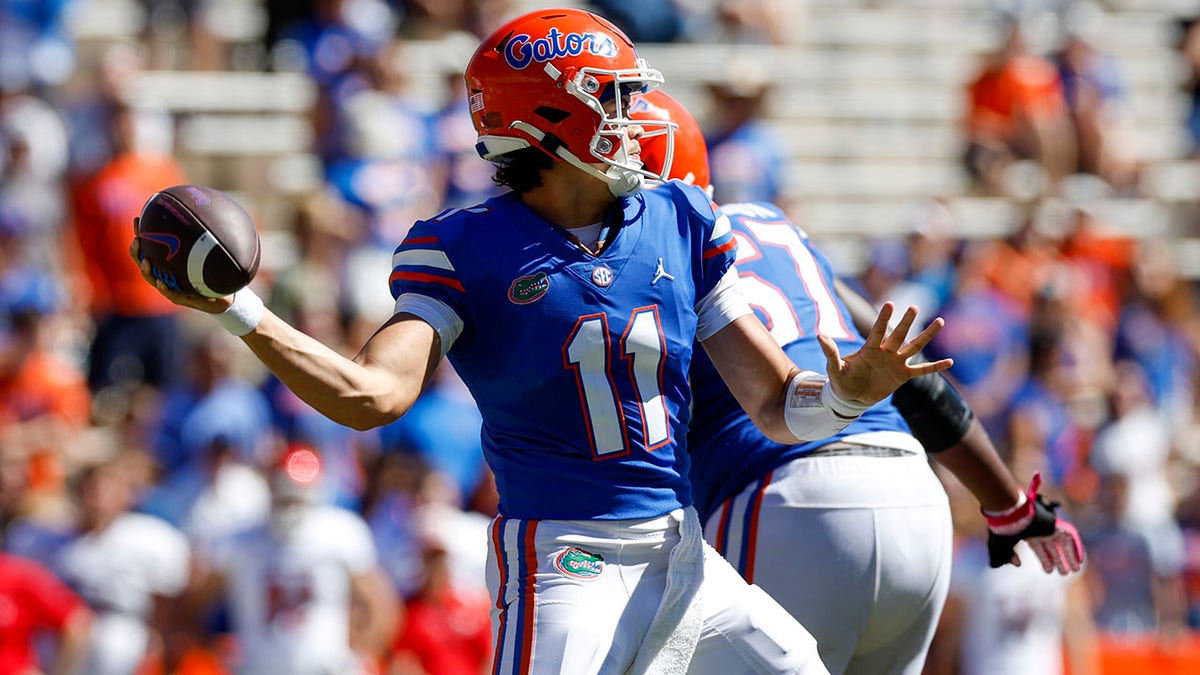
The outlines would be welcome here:
M 1063 95 L 1075 129 L 1075 169 L 1127 192 L 1138 171 L 1124 147 L 1126 91 L 1116 58 L 1099 48 L 1104 12 L 1092 2 L 1074 2 L 1066 12 L 1066 35 L 1055 54 Z

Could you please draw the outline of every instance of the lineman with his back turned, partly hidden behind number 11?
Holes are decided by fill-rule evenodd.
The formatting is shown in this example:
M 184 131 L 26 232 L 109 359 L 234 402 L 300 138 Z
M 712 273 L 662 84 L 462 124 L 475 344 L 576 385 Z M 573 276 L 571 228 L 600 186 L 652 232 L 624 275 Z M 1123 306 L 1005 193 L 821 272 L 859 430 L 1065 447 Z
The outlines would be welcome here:
M 686 109 L 656 90 L 638 96 L 630 114 L 676 123 L 667 177 L 708 185 L 703 137 Z M 665 166 L 658 141 L 641 150 L 648 168 Z M 840 287 L 829 261 L 778 207 L 724 204 L 719 213 L 738 243 L 742 292 L 793 363 L 822 370 L 818 335 L 842 350 L 863 345 L 863 312 L 847 301 L 865 300 Z M 804 443 L 779 443 L 755 428 L 703 350 L 690 376 L 695 414 L 688 438 L 704 536 L 800 620 L 830 673 L 922 671 L 948 590 L 952 548 L 947 496 L 926 452 L 983 508 L 995 509 L 984 512 L 991 513 L 994 566 L 1013 561 L 1021 538 L 1048 573 L 1079 569 L 1074 528 L 1042 506 L 1042 528 L 1028 530 L 1039 504 L 1037 478 L 1025 495 L 970 407 L 938 375 L 896 392 L 904 414 L 888 396 L 832 436 Z M 918 382 L 922 388 L 910 390 Z

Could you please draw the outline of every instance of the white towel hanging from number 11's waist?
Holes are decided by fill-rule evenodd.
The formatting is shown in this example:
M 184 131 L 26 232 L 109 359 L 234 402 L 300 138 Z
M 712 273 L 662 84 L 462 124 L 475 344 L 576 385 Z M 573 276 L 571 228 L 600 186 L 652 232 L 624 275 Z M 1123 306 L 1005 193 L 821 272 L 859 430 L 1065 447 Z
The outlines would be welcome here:
M 683 675 L 700 641 L 704 580 L 700 516 L 691 507 L 671 516 L 680 521 L 679 543 L 667 558 L 667 586 L 629 669 L 632 675 Z

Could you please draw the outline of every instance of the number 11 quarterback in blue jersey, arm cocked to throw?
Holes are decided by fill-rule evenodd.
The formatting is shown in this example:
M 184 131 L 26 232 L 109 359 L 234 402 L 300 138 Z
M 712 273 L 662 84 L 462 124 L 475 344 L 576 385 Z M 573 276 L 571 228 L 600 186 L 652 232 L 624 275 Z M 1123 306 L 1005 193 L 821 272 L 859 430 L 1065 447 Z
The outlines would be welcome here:
M 640 138 L 670 147 L 673 125 L 634 123 L 630 96 L 661 82 L 578 10 L 485 38 L 467 102 L 509 192 L 414 225 L 394 258 L 395 316 L 353 359 L 248 289 L 200 299 L 156 285 L 358 429 L 403 414 L 450 359 L 500 495 L 493 673 L 827 673 L 800 623 L 703 543 L 688 479 L 694 345 L 785 443 L 836 434 L 950 365 L 908 363 L 941 319 L 907 340 L 916 307 L 889 329 L 886 305 L 856 352 L 824 340 L 824 374 L 797 368 L 738 291 L 728 219 L 695 186 L 640 190 L 662 175 L 642 168 Z

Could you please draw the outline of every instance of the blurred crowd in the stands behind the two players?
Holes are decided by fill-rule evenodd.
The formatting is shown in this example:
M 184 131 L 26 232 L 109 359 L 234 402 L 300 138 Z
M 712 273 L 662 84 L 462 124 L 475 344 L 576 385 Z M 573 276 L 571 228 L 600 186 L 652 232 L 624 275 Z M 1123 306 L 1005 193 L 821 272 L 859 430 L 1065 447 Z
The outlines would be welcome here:
M 959 555 L 926 671 L 1028 673 L 989 656 L 1020 639 L 1075 675 L 1200 671 L 1200 2 L 558 5 L 664 71 L 719 203 L 784 205 L 872 301 L 943 316 L 931 356 L 1078 524 L 1082 575 L 988 573 L 947 477 Z M 258 222 L 269 306 L 353 354 L 412 222 L 496 192 L 461 68 L 538 6 L 0 0 L 0 536 L 92 617 L 85 637 L 47 620 L 42 668 L 74 640 L 108 658 L 94 673 L 235 670 L 252 638 L 200 586 L 229 537 L 278 520 L 298 452 L 320 460 L 304 500 L 370 533 L 346 595 L 383 633 L 364 661 L 487 668 L 496 494 L 452 370 L 391 426 L 336 425 L 126 249 L 156 189 L 227 191 Z M 364 598 L 372 574 L 386 592 Z

